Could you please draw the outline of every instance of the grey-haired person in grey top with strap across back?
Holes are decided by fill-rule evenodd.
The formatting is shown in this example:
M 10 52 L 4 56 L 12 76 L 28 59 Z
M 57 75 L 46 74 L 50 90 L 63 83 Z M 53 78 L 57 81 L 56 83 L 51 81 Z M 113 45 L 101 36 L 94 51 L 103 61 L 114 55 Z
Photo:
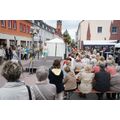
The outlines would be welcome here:
M 41 66 L 37 72 L 36 77 L 38 82 L 33 86 L 36 100 L 54 100 L 56 95 L 56 87 L 49 83 L 48 69 Z

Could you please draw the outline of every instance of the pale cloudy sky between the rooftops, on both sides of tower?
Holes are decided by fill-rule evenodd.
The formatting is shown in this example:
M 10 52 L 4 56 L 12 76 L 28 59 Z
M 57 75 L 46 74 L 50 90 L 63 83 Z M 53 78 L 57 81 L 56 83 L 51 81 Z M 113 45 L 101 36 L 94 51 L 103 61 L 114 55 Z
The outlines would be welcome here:
M 43 20 L 50 26 L 56 28 L 56 21 L 57 20 Z M 62 33 L 67 29 L 71 38 L 75 39 L 75 33 L 77 32 L 78 24 L 80 20 L 62 20 Z

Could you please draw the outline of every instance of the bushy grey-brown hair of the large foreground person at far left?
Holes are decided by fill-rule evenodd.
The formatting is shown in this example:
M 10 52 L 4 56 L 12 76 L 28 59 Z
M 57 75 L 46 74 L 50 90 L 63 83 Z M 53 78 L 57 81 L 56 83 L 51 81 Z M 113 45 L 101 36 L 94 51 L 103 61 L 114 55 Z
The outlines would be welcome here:
M 18 63 L 8 61 L 5 63 L 2 69 L 2 76 L 5 77 L 8 82 L 14 82 L 20 78 L 22 68 Z

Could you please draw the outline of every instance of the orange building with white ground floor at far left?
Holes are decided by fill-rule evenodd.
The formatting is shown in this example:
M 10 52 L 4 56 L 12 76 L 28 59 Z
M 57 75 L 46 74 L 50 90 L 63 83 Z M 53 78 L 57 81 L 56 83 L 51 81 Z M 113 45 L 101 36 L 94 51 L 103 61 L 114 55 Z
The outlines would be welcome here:
M 0 45 L 30 46 L 32 36 L 28 20 L 0 20 Z

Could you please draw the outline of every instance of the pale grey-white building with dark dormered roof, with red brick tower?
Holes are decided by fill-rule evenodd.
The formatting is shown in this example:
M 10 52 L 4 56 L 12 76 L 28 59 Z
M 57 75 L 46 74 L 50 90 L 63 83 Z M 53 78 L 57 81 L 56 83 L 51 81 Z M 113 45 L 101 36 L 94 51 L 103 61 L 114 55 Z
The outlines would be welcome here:
M 58 20 L 56 28 L 46 24 L 43 20 L 32 20 L 33 27 L 38 30 L 34 37 L 35 47 L 39 49 L 42 43 L 54 38 L 62 38 L 62 21 Z

